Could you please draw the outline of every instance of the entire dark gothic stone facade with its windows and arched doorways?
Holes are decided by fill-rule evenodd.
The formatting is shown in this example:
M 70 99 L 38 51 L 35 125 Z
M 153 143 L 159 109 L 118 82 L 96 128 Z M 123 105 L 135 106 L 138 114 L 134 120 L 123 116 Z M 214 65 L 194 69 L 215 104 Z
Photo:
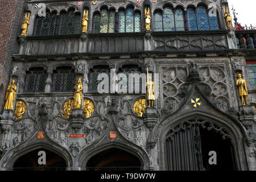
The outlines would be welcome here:
M 36 1 L 24 2 L 15 24 L 9 81 L 17 91 L 13 110 L 1 106 L 1 170 L 42 167 L 39 150 L 56 160 L 49 169 L 256 170 L 256 31 L 227 28 L 227 1 Z M 142 80 L 138 92 L 117 93 L 110 77 L 98 92 L 100 73 L 129 80 L 147 71 L 158 97 L 141 115 Z M 89 111 L 67 115 L 79 77 Z

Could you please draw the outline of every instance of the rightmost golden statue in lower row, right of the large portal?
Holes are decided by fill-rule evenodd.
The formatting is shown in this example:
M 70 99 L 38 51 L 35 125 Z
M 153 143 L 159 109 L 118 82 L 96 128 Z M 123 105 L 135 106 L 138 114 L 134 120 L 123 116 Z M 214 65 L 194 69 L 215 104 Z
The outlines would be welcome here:
M 248 89 L 246 80 L 242 78 L 242 75 L 240 73 L 238 73 L 237 76 L 238 79 L 236 81 L 236 86 L 238 86 L 239 96 L 242 98 L 242 105 L 250 105 L 247 100 Z M 245 96 L 245 98 L 243 98 L 243 96 Z

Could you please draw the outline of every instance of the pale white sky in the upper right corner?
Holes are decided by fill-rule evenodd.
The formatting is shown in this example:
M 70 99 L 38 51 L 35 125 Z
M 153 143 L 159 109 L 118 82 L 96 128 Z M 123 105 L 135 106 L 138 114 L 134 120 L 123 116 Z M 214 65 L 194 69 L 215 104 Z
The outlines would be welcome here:
M 229 2 L 229 9 L 230 14 L 233 16 L 232 12 L 232 5 L 238 13 L 237 22 L 240 23 L 242 26 L 256 26 L 256 0 L 228 0 Z

